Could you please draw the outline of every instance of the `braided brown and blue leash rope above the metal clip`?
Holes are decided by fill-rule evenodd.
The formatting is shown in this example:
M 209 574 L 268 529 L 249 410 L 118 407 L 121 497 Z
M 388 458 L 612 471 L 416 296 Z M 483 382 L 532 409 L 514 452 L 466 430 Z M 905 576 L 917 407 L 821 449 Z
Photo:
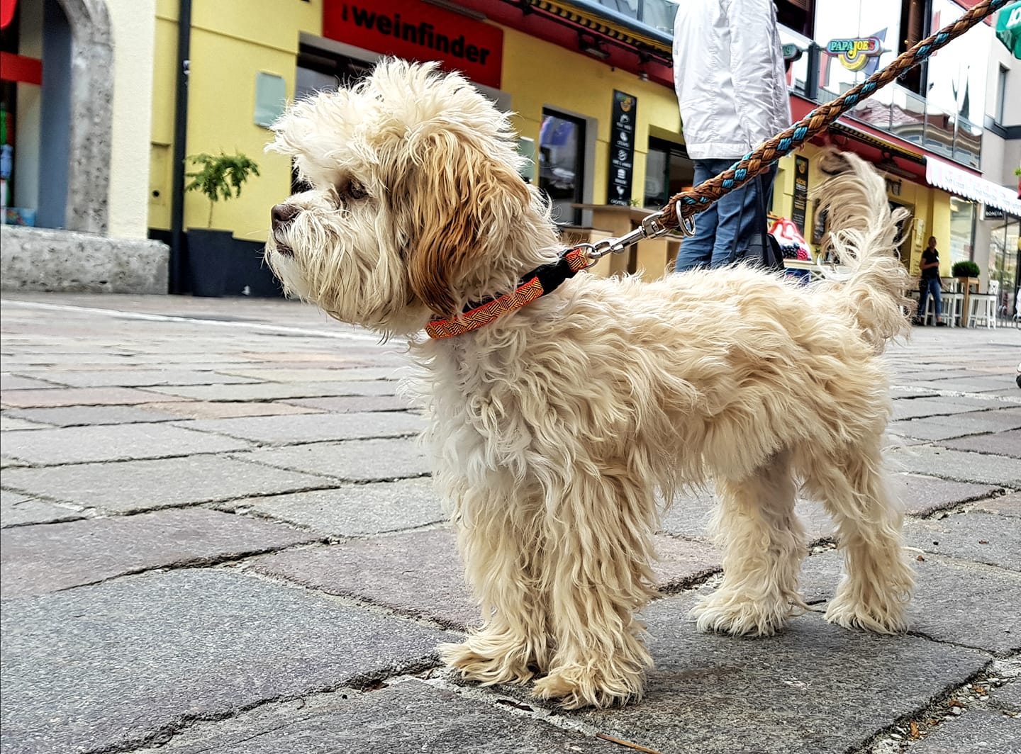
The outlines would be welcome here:
M 677 204 L 680 203 L 680 219 L 685 221 L 684 224 L 688 224 L 694 214 L 707 209 L 720 197 L 743 186 L 756 175 L 765 172 L 780 157 L 800 147 L 806 141 L 825 130 L 844 110 L 870 97 L 877 89 L 881 89 L 908 68 L 922 62 L 947 42 L 960 37 L 987 15 L 1007 5 L 1008 2 L 1010 0 L 982 0 L 954 23 L 943 27 L 931 37 L 922 40 L 882 70 L 876 71 L 854 89 L 848 89 L 832 102 L 820 105 L 786 131 L 759 145 L 755 151 L 746 154 L 743 159 L 735 162 L 716 178 L 711 178 L 690 191 L 675 194 L 661 211 L 660 222 L 666 228 L 680 225 L 681 222 L 678 220 L 677 214 Z

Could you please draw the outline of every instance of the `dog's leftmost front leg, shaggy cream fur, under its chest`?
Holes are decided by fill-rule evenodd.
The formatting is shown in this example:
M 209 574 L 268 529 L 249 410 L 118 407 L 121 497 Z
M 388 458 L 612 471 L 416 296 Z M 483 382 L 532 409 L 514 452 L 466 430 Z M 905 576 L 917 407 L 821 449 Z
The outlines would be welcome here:
M 463 644 L 439 649 L 463 677 L 522 684 L 549 664 L 546 600 L 536 576 L 537 506 L 479 501 L 459 524 L 458 545 L 468 582 L 482 604 L 482 625 Z

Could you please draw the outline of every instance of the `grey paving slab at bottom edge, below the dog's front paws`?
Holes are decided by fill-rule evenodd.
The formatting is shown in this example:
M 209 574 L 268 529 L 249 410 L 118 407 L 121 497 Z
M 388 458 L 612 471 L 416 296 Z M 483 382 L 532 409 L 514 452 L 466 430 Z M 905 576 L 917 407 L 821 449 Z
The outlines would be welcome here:
M 406 681 L 370 694 L 344 690 L 199 723 L 135 754 L 621 754 L 499 705 Z

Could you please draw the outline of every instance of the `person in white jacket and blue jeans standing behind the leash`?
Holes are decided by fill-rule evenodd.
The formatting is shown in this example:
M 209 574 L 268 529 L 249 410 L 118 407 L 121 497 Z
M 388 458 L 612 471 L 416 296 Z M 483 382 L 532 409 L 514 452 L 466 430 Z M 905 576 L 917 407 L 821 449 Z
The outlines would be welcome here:
M 674 18 L 674 89 L 694 182 L 719 174 L 790 125 L 773 0 L 682 0 Z M 676 269 L 718 267 L 765 242 L 774 165 L 703 212 Z

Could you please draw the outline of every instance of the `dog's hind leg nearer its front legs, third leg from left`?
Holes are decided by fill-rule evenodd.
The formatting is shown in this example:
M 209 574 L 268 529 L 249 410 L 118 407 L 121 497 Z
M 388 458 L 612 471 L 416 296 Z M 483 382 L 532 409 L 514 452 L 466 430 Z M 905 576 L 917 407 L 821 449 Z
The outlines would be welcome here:
M 794 513 L 790 453 L 781 452 L 741 480 L 717 477 L 713 519 L 723 550 L 723 583 L 691 610 L 699 631 L 769 636 L 805 609 L 798 590 L 808 554 Z

